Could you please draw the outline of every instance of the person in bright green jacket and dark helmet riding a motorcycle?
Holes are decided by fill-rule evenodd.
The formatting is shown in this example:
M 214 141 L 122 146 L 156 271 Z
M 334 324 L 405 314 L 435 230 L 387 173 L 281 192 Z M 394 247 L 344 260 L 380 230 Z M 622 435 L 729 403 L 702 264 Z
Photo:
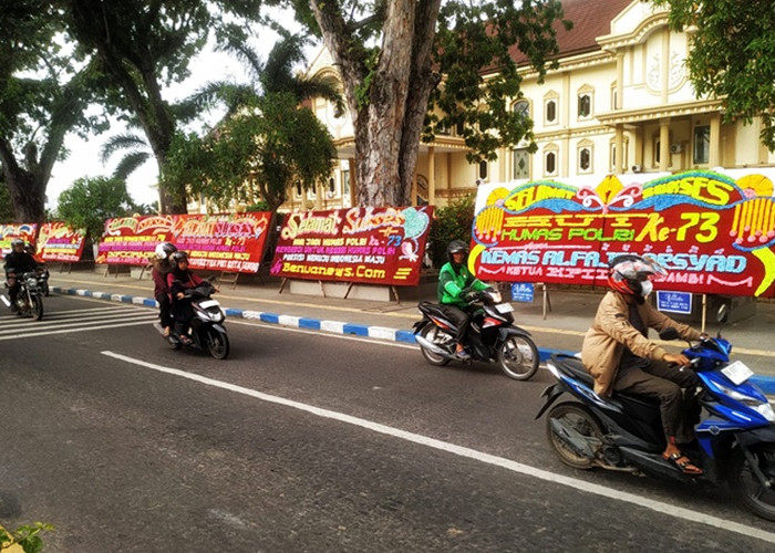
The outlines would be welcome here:
M 463 338 L 471 324 L 468 303 L 476 298 L 477 292 L 489 286 L 468 272 L 468 248 L 463 240 L 450 242 L 446 252 L 450 261 L 438 271 L 436 298 L 446 316 L 457 327 L 455 355 L 461 359 L 468 359 L 471 355 L 463 346 Z

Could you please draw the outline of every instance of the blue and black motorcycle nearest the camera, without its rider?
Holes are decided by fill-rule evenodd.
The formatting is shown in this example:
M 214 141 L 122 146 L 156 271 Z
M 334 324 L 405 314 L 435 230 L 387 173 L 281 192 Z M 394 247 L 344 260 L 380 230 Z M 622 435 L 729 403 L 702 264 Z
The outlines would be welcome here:
M 725 319 L 722 307 L 719 321 Z M 660 337 L 676 340 L 678 331 L 666 328 Z M 715 338 L 689 343 L 683 349 L 700 380 L 694 393 L 703 407 L 694 430 L 696 445 L 683 452 L 703 474 L 685 474 L 662 457 L 665 438 L 658 403 L 621 393 L 598 396 L 592 377 L 574 356 L 552 355 L 547 363 L 557 383 L 544 390 L 545 404 L 536 419 L 548 410 L 547 438 L 569 467 L 716 486 L 727 481 L 743 507 L 775 521 L 775 413 L 762 390 L 748 382 L 754 373 L 740 361 L 730 363 L 731 351 L 721 331 Z M 565 394 L 575 400 L 551 407 Z

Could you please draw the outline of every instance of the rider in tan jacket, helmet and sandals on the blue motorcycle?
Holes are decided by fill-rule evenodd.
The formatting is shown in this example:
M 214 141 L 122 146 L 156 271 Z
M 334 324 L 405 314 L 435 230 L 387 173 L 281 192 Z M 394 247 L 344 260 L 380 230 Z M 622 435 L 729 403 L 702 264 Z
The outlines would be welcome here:
M 611 290 L 600 301 L 587 331 L 581 361 L 595 378 L 599 396 L 627 392 L 658 399 L 668 442 L 662 457 L 686 474 L 702 474 L 679 447 L 694 438 L 692 419 L 699 415 L 696 375 L 684 368 L 689 364 L 685 355 L 668 353 L 649 340 L 648 332 L 672 326 L 684 340 L 706 335 L 673 321 L 645 301 L 653 289 L 652 280 L 665 274 L 655 261 L 640 255 L 622 254 L 609 262 Z

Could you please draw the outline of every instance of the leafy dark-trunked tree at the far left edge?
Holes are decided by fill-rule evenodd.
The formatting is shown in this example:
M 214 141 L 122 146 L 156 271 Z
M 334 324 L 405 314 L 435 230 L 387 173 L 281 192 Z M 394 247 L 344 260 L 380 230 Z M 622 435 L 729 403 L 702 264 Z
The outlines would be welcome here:
M 0 165 L 19 222 L 44 219 L 45 189 L 66 155 L 66 134 L 102 128 L 84 115 L 92 67 L 73 55 L 61 20 L 55 2 L 45 0 L 0 11 Z

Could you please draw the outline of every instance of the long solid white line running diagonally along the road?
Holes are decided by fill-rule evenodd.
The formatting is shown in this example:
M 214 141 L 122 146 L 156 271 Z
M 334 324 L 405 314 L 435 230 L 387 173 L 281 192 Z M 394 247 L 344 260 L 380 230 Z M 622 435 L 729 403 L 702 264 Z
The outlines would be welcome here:
M 267 401 L 276 405 L 282 405 L 285 407 L 291 407 L 293 409 L 299 409 L 318 417 L 323 417 L 340 422 L 345 422 L 348 425 L 353 425 L 360 428 L 365 428 L 378 434 L 383 434 L 391 436 L 393 438 L 399 438 L 402 440 L 411 441 L 414 444 L 420 444 L 433 449 L 438 449 L 441 451 L 446 451 L 459 457 L 466 457 L 468 459 L 475 459 L 480 462 L 488 465 L 494 465 L 496 467 L 517 472 L 519 474 L 529 476 L 538 478 L 539 480 L 545 480 L 547 482 L 558 483 L 560 486 L 567 486 L 586 493 L 595 493 L 608 499 L 616 501 L 622 501 L 626 503 L 632 503 L 638 507 L 650 509 L 658 513 L 668 514 L 673 518 L 684 519 L 691 522 L 696 522 L 700 524 L 705 524 L 714 529 L 722 529 L 728 532 L 735 532 L 751 538 L 756 538 L 768 543 L 775 543 L 775 533 L 767 532 L 765 530 L 760 530 L 753 526 L 746 526 L 745 524 L 740 524 L 737 522 L 726 521 L 712 514 L 700 513 L 691 509 L 684 509 L 682 507 L 674 507 L 661 501 L 643 498 L 641 495 L 636 495 L 633 493 L 628 493 L 619 490 L 613 490 L 599 486 L 591 482 L 585 482 L 583 480 L 578 480 L 576 478 L 566 477 L 562 474 L 556 474 L 547 470 L 537 469 L 530 467 L 529 465 L 523 465 L 510 459 L 505 459 L 503 457 L 496 457 L 494 455 L 484 453 L 475 449 L 466 448 L 463 446 L 456 446 L 454 444 L 448 444 L 446 441 L 437 440 L 435 438 L 428 438 L 427 436 L 422 436 L 420 434 L 407 432 L 405 430 L 400 430 L 397 428 L 392 428 L 390 426 L 381 425 L 379 422 L 373 422 L 371 420 L 353 417 L 350 415 L 344 415 L 343 413 L 332 411 L 329 409 L 321 409 L 320 407 L 314 407 L 312 405 L 302 404 L 300 401 L 294 401 L 292 399 L 286 399 L 283 397 L 271 396 L 269 394 L 264 394 L 261 392 L 246 388 L 242 386 L 237 386 L 236 384 L 229 384 L 221 380 L 216 380 L 214 378 L 208 378 L 206 376 L 196 375 L 192 373 L 186 373 L 184 371 L 178 371 L 176 368 L 164 367 L 162 365 L 155 365 L 153 363 L 147 363 L 141 359 L 135 359 L 126 355 L 118 353 L 105 351 L 101 352 L 103 355 L 113 357 L 115 359 L 121 359 L 133 365 L 138 365 L 142 367 L 158 371 L 159 373 L 166 373 L 169 375 L 178 376 L 180 378 L 187 378 L 189 380 L 198 382 L 207 386 L 214 386 L 216 388 L 226 389 L 229 392 L 235 392 L 237 394 L 242 394 L 245 396 L 255 397 L 261 401 Z

